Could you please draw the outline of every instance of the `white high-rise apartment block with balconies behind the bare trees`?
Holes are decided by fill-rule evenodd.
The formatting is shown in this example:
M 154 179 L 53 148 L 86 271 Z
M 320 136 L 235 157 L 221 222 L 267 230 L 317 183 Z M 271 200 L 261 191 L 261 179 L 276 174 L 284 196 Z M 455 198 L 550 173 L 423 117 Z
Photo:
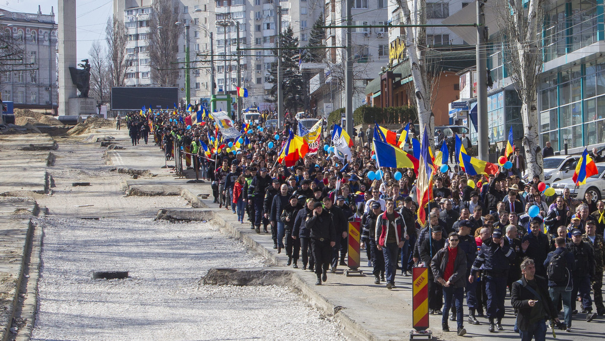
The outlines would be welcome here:
M 214 48 L 215 93 L 227 90 L 235 93 L 237 86 L 237 59 L 241 68 L 241 86 L 249 97 L 243 99 L 243 108 L 275 107 L 270 96 L 269 70 L 275 56 L 272 50 L 241 51 L 237 58 L 237 30 L 241 48 L 275 47 L 277 4 L 273 0 L 175 0 L 185 25 L 189 25 L 189 53 L 191 101 L 199 102 L 211 95 L 211 45 Z M 300 45 L 307 45 L 313 23 L 323 10 L 317 0 L 280 1 L 282 27 L 291 25 Z M 153 85 L 149 78 L 149 56 L 144 36 L 152 0 L 114 0 L 114 16 L 122 19 L 128 30 L 129 68 L 126 85 Z M 212 33 L 212 42 L 210 41 Z M 142 36 L 143 35 L 143 36 Z M 224 56 L 227 58 L 224 58 Z M 227 59 L 227 60 L 225 60 Z M 185 61 L 185 35 L 178 44 L 178 61 Z M 182 64 L 178 64 L 182 65 Z M 185 88 L 185 71 L 180 70 L 178 87 Z M 180 91 L 181 98 L 185 92 Z

